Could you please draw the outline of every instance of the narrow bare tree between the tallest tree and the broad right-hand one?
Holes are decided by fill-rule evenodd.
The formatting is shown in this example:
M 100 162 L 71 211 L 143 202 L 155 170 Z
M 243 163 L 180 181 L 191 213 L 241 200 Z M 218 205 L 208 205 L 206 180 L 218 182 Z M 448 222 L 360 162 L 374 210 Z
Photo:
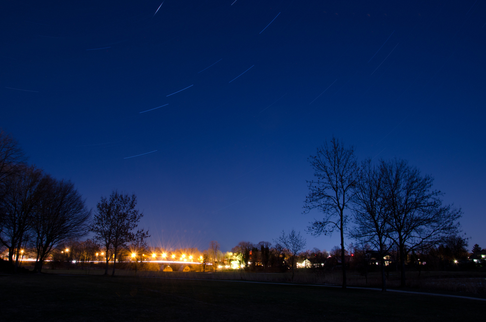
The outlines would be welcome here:
M 371 159 L 363 161 L 352 199 L 354 223 L 357 226 L 349 235 L 361 245 L 370 244 L 377 250 L 382 271 L 382 291 L 386 291 L 384 256 L 393 246 L 393 241 L 389 238 L 392 216 L 383 194 L 382 181 L 382 171 L 371 163 Z

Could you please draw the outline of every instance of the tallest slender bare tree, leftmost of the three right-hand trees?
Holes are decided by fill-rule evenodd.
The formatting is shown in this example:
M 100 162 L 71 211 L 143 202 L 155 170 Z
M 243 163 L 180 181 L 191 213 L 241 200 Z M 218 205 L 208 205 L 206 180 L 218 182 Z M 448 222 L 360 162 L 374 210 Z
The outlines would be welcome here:
M 335 230 L 341 235 L 341 263 L 343 269 L 343 288 L 346 288 L 346 265 L 344 233 L 347 229 L 348 215 L 345 212 L 353 196 L 358 166 L 354 147 L 345 148 L 334 136 L 317 149 L 317 154 L 309 161 L 314 168 L 316 179 L 309 183 L 309 195 L 304 203 L 304 213 L 318 209 L 324 214 L 322 220 L 314 220 L 309 231 L 314 236 L 332 234 Z

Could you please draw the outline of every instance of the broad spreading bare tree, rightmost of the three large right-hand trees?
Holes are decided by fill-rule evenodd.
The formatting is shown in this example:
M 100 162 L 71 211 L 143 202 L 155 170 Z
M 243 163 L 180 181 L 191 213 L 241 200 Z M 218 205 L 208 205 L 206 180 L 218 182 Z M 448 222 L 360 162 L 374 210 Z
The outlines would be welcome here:
M 459 230 L 461 210 L 442 205 L 440 191 L 432 189 L 434 179 L 421 176 L 407 161 L 381 162 L 384 199 L 391 218 L 393 240 L 399 250 L 400 286 L 405 286 L 405 257 L 408 252 L 443 243 Z

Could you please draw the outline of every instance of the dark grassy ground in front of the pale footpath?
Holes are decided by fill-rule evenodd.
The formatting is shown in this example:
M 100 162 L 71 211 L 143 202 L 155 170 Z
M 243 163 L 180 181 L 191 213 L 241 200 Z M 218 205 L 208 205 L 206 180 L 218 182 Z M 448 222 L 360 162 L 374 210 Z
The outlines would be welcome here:
M 486 302 L 318 286 L 0 275 L 0 321 L 483 321 Z

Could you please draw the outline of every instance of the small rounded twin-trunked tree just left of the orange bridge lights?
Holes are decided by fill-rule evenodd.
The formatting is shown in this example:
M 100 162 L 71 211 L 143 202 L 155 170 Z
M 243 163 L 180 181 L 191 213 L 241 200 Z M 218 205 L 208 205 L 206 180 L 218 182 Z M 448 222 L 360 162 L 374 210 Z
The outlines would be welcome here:
M 105 275 L 108 275 L 108 264 L 110 258 L 113 257 L 111 275 L 115 276 L 117 255 L 126 247 L 127 243 L 150 237 L 148 231 L 143 229 L 133 232 L 138 227 L 140 218 L 143 217 L 143 214 L 135 209 L 136 205 L 137 196 L 135 194 L 130 197 L 114 191 L 109 199 L 102 197 L 96 206 L 97 213 L 94 215 L 90 231 L 95 233 L 95 239 L 105 249 Z

